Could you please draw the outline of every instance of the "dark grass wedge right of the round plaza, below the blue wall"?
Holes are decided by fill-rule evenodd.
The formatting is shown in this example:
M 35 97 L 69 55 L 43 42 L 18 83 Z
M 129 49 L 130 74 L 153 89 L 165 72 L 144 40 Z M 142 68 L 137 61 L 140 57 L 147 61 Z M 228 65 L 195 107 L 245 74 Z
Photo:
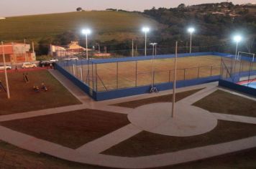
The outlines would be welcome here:
M 254 100 L 222 90 L 211 93 L 193 105 L 209 112 L 256 117 L 256 102 Z

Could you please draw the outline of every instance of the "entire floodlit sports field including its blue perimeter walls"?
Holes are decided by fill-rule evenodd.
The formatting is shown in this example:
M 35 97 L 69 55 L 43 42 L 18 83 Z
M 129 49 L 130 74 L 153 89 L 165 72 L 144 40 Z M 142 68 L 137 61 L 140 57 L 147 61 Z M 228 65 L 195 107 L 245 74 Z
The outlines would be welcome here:
M 214 82 L 220 77 L 229 78 L 231 72 L 236 74 L 256 69 L 255 62 L 251 62 L 252 58 L 235 59 L 234 57 L 231 54 L 216 52 L 178 54 L 178 87 Z M 155 57 L 80 59 L 59 62 L 58 69 L 94 99 L 106 100 L 140 95 L 149 92 L 151 86 L 160 87 L 160 90 L 171 89 L 175 72 L 174 62 L 174 54 Z M 116 94 L 116 91 L 119 91 L 119 94 Z M 106 92 L 111 92 L 111 96 Z M 98 99 L 99 95 L 101 99 Z

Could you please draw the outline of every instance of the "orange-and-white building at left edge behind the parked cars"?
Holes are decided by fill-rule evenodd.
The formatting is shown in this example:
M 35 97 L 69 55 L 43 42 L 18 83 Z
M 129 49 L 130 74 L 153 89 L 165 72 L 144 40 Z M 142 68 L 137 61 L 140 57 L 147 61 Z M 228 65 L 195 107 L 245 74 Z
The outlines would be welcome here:
M 11 64 L 33 62 L 36 60 L 35 52 L 30 52 L 30 44 L 6 43 L 4 46 L 0 45 L 0 62 L 4 62 L 3 48 L 5 61 Z

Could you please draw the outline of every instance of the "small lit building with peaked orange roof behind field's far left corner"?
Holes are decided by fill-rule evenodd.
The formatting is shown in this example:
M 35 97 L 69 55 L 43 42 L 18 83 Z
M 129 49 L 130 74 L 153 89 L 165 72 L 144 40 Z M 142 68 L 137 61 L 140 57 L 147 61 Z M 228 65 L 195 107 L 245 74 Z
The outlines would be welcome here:
M 86 50 L 88 50 L 88 52 L 92 51 L 92 49 L 81 47 L 78 42 L 70 42 L 67 47 L 50 44 L 49 54 L 52 55 L 52 57 L 70 57 L 86 52 Z

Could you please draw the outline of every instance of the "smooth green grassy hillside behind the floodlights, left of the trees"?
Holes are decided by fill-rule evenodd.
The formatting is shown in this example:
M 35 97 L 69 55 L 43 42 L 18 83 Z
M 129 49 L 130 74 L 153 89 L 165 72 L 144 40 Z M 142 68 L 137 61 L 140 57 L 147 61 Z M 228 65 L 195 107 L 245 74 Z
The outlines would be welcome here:
M 85 26 L 93 29 L 93 39 L 108 41 L 137 37 L 143 25 L 157 28 L 157 21 L 142 14 L 123 11 L 80 11 L 61 14 L 8 17 L 0 21 L 4 41 L 52 37 L 63 32 L 80 34 Z

